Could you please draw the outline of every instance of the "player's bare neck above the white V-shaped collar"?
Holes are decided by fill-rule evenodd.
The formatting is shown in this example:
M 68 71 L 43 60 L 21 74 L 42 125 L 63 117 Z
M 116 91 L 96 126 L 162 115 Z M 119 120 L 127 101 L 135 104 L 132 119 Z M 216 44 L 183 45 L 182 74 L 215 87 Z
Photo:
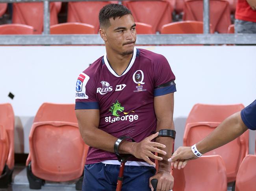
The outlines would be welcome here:
M 112 51 L 107 50 L 107 58 L 109 65 L 112 69 L 117 73 L 117 75 L 121 76 L 122 73 L 126 70 L 130 61 L 132 59 L 133 54 L 130 55 L 119 55 L 117 53 L 113 53 Z

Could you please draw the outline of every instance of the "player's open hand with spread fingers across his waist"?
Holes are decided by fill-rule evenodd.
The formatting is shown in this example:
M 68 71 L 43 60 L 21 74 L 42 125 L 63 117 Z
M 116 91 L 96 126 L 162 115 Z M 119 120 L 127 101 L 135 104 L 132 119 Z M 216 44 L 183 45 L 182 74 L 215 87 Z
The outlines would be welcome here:
M 148 164 L 151 164 L 155 166 L 154 162 L 152 162 L 150 158 L 156 159 L 156 160 L 163 160 L 163 158 L 154 155 L 152 152 L 160 153 L 162 155 L 166 155 L 165 151 L 162 151 L 161 149 L 158 149 L 156 147 L 165 148 L 166 146 L 157 142 L 151 142 L 154 138 L 158 136 L 158 132 L 146 137 L 144 140 L 138 143 L 134 143 L 132 145 L 132 155 L 134 155 L 136 158 L 140 158 L 148 162 Z

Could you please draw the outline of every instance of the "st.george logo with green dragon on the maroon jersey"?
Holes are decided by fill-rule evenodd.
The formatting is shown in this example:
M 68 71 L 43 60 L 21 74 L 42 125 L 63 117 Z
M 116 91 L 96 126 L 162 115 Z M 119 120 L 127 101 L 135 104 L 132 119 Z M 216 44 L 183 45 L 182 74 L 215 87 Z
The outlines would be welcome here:
M 111 116 L 105 117 L 105 122 L 109 122 L 109 123 L 114 123 L 116 121 L 133 122 L 134 120 L 139 119 L 138 115 L 128 115 L 129 113 L 135 113 L 134 111 L 130 111 L 128 113 L 123 112 L 124 107 L 121 106 L 121 104 L 118 102 L 118 100 L 115 103 L 113 103 L 113 106 L 110 107 L 109 111 L 115 117 L 111 117 Z M 124 115 L 120 117 L 121 112 L 123 112 Z

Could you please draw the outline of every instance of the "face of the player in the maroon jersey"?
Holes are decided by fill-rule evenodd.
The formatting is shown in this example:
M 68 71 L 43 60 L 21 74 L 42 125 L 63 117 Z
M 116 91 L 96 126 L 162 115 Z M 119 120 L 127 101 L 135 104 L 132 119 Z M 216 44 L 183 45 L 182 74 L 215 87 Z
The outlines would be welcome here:
M 106 48 L 121 55 L 130 55 L 134 52 L 136 42 L 135 22 L 132 15 L 124 15 L 109 19 L 110 26 L 104 28 Z M 102 33 L 102 32 L 101 32 Z

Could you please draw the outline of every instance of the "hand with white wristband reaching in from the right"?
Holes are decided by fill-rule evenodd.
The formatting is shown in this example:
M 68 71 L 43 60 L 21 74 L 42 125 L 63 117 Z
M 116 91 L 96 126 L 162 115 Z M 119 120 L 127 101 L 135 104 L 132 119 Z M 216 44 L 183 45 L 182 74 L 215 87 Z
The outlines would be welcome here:
M 178 147 L 178 149 L 173 153 L 172 158 L 168 161 L 172 162 L 174 168 L 184 168 L 189 160 L 197 159 L 198 157 L 194 155 L 191 147 Z

